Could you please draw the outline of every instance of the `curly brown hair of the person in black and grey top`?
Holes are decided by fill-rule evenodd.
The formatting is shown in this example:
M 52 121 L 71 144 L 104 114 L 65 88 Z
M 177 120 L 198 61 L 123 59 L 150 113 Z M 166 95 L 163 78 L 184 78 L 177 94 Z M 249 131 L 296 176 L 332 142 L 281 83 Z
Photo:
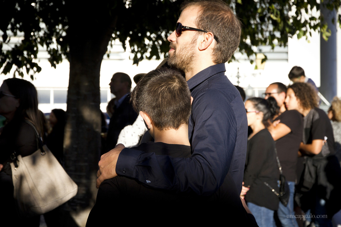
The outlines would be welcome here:
M 303 108 L 303 110 L 309 110 L 317 107 L 318 96 L 314 87 L 308 83 L 294 83 L 288 86 L 288 89 L 291 88 L 296 98 L 299 100 L 299 105 Z

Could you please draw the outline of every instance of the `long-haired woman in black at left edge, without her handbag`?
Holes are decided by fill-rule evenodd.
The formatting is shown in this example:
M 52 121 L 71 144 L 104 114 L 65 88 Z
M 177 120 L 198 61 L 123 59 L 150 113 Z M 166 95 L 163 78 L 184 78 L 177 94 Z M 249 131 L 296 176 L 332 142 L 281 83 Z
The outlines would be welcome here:
M 37 91 L 29 81 L 10 78 L 0 87 L 0 115 L 6 118 L 0 135 L 0 196 L 3 209 L 2 221 L 29 226 L 39 226 L 39 216 L 19 217 L 13 198 L 13 181 L 10 162 L 15 151 L 23 157 L 31 155 L 37 149 L 35 131 L 26 121 L 30 121 L 38 132 L 42 131 L 42 122 L 38 112 Z M 3 223 L 2 223 L 3 224 Z M 6 226 L 6 225 L 5 225 Z

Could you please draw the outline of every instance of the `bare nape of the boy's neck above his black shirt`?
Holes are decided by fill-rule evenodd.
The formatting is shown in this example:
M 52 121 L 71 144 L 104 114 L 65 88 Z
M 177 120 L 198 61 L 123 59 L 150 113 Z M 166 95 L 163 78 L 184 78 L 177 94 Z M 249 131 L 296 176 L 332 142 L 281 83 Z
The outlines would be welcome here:
M 176 129 L 154 129 L 153 133 L 154 142 L 162 142 L 166 144 L 181 144 L 190 146 L 188 140 L 188 125 L 182 124 L 177 130 Z

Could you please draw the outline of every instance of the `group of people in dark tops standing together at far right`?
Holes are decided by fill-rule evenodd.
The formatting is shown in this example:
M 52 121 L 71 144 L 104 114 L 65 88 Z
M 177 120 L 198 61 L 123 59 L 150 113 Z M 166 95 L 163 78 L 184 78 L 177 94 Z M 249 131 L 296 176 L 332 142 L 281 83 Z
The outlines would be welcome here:
M 334 141 L 339 135 L 335 130 L 333 135 L 333 128 L 337 126 L 332 128 L 331 122 L 336 121 L 332 112 L 340 104 L 339 99 L 333 100 L 328 118 L 317 108 L 316 88 L 307 82 L 295 82 L 288 87 L 279 82 L 272 83 L 264 97 L 267 102 L 261 98 L 250 98 L 245 102 L 252 131 L 248 139 L 241 196 L 245 196 L 248 206 L 257 201 L 253 214 L 259 226 L 268 226 L 271 222 L 277 226 L 337 226 L 341 209 L 336 202 L 341 199 L 338 193 L 341 184 L 337 179 L 341 177 L 341 168 L 336 157 L 339 145 Z M 267 108 L 258 107 L 260 105 Z M 262 120 L 265 126 L 260 123 Z M 255 140 L 254 136 L 263 130 L 266 135 Z M 252 171 L 255 174 L 252 183 L 248 179 L 249 165 L 252 165 L 250 159 L 257 160 L 253 165 L 258 170 Z M 267 165 L 273 165 L 265 165 L 264 160 Z M 279 177 L 279 168 L 288 184 L 290 196 L 287 202 L 274 199 L 274 194 L 278 197 L 276 191 L 281 191 L 276 181 L 283 180 Z M 271 182 L 271 179 L 275 181 Z M 252 189 L 261 195 L 254 196 Z M 250 192 L 252 194 L 248 196 Z M 251 211 L 252 206 L 249 206 Z

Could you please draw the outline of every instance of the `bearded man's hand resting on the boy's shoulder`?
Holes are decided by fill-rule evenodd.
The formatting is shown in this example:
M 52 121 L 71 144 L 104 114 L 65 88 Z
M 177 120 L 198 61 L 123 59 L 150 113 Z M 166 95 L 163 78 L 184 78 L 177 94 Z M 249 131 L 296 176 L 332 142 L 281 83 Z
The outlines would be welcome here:
M 116 163 L 123 148 L 125 148 L 123 144 L 117 144 L 114 149 L 101 156 L 101 160 L 98 163 L 99 170 L 97 171 L 96 188 L 99 188 L 104 180 L 117 176 Z

